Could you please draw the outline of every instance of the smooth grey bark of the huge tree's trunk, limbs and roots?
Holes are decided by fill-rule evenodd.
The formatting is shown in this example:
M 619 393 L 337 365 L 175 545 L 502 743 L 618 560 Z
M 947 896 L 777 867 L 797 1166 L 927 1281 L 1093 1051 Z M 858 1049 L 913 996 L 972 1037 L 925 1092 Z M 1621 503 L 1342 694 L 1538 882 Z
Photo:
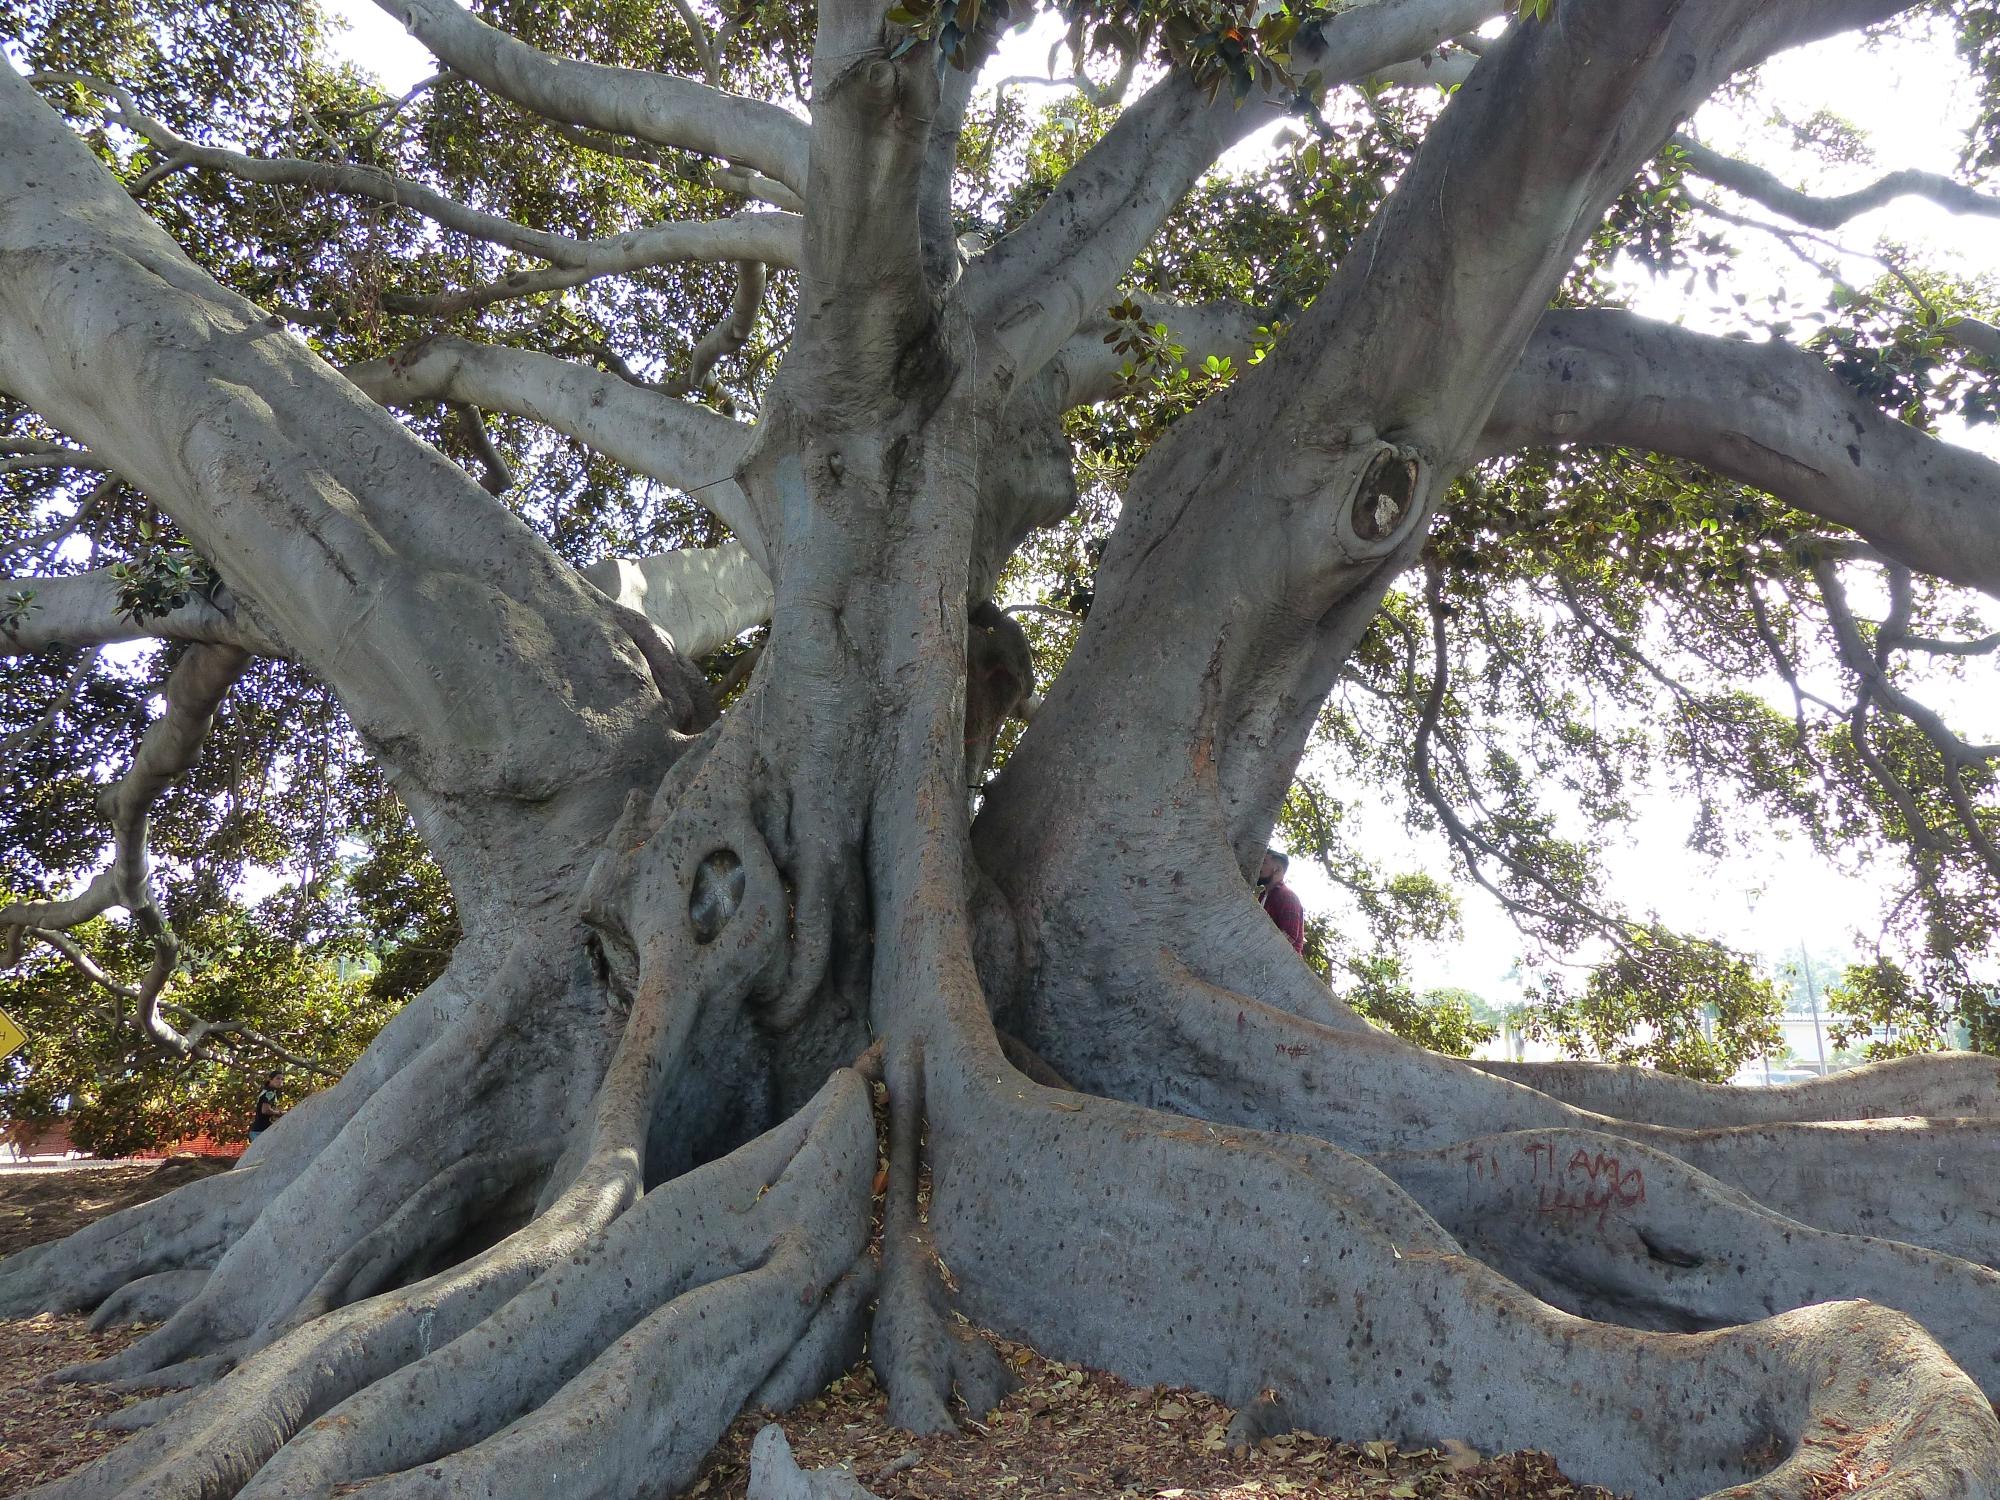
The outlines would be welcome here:
M 0 386 L 230 580 L 234 618 L 186 634 L 334 686 L 468 918 L 450 970 L 246 1170 L 0 1266 L 10 1312 L 170 1310 L 80 1374 L 190 1392 L 44 1500 L 670 1492 L 738 1410 L 800 1398 L 864 1336 L 896 1420 L 988 1406 L 1002 1378 L 954 1306 L 1134 1380 L 1534 1444 L 1642 1496 L 2000 1494 L 1990 1060 L 1754 1098 L 1504 1076 L 1362 1026 L 1242 880 L 1482 434 L 1710 430 L 1614 398 L 1552 414 L 1524 358 L 1616 358 L 1612 324 L 1544 322 L 1610 198 L 1732 72 L 1894 4 L 1594 0 L 1514 26 L 1294 336 L 1146 460 L 976 826 L 968 612 L 1074 500 L 1056 422 L 1090 388 L 1088 310 L 1238 122 L 1168 80 L 958 266 L 924 164 L 962 90 L 892 56 L 868 0 L 820 6 L 810 124 L 558 66 L 442 0 L 386 8 L 530 110 L 798 194 L 798 322 L 754 430 L 446 340 L 346 380 L 0 70 L 24 184 L 0 202 Z M 1360 76 L 1488 10 L 1380 0 L 1312 46 Z M 1826 406 L 1792 378 L 1780 406 Z M 520 410 L 702 474 L 742 550 L 594 586 L 368 396 Z M 1824 472 L 1826 422 L 1770 424 L 1718 462 Z M 1940 504 L 2000 534 L 2000 486 L 1938 462 L 1956 488 L 1898 486 L 1884 546 L 1928 558 Z M 1832 488 L 1824 514 L 1874 536 Z M 716 720 L 684 652 L 766 610 Z M 522 1138 L 548 1148 L 498 1150 Z

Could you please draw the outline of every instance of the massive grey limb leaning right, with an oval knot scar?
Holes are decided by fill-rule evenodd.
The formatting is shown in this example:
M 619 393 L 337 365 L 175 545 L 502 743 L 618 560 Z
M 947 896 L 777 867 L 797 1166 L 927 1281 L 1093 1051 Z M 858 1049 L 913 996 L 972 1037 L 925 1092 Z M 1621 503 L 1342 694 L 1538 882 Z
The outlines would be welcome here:
M 988 808 L 1022 816 L 1014 798 L 1032 806 L 1064 758 L 1144 756 L 1126 738 L 1144 724 L 1192 746 L 1174 796 L 1212 786 L 1218 832 L 1252 844 L 1354 614 L 1422 538 L 1616 192 L 1734 70 L 1894 8 L 1558 0 L 1510 28 L 1284 342 L 1154 444 L 1070 666 Z

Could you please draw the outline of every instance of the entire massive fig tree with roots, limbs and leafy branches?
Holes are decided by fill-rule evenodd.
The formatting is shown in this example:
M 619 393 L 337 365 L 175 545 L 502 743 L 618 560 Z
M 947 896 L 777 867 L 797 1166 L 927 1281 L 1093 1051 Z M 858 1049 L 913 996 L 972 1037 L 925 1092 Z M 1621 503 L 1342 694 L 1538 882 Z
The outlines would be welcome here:
M 24 512 L 54 540 L 10 520 L 44 562 L 0 644 L 72 696 L 88 658 L 72 682 L 50 652 L 158 638 L 170 674 L 102 796 L 108 866 L 0 924 L 158 1046 L 228 1046 L 162 1002 L 148 824 L 280 660 L 338 698 L 464 930 L 240 1170 L 0 1264 L 8 1312 L 160 1320 L 82 1374 L 166 1394 L 38 1494 L 668 1494 L 738 1410 L 862 1348 L 898 1422 L 984 1410 L 1002 1374 L 958 1314 L 1302 1426 L 1546 1446 L 1640 1496 L 2000 1494 L 2000 1064 L 1770 1090 L 1480 1068 L 1368 1026 L 1246 882 L 1370 652 L 1408 644 L 1412 776 L 1448 808 L 1444 596 L 1494 504 L 1460 476 L 1548 444 L 1784 508 L 1802 540 L 1770 560 L 1818 570 L 1882 816 L 1938 890 L 1992 854 L 1992 746 L 1890 648 L 1930 628 L 1912 578 L 2000 586 L 2000 466 L 1784 342 L 1574 306 L 1696 106 L 1908 6 L 1076 10 L 1142 68 L 1086 78 L 1092 126 L 1000 204 L 1004 110 L 972 108 L 1000 18 L 966 0 L 382 6 L 440 64 L 410 98 L 280 76 L 306 46 L 284 6 L 232 12 L 242 68 L 202 54 L 202 8 L 4 12 L 6 454 L 86 478 Z M 1134 286 L 1274 112 L 1432 68 L 1456 88 L 1372 176 L 1330 128 L 1306 158 L 1302 190 L 1362 184 L 1300 222 L 1310 288 Z M 998 580 L 1078 504 L 1076 412 L 1172 348 L 1230 378 L 1130 454 L 1036 692 Z M 522 454 L 714 520 L 580 556 L 566 516 L 508 504 Z M 608 504 L 592 484 L 568 494 Z M 84 538 L 132 496 L 176 540 L 108 532 L 112 566 Z M 1856 558 L 1890 620 L 1844 592 Z M 760 626 L 718 694 L 702 658 Z M 120 972 L 66 936 L 112 910 L 142 954 Z

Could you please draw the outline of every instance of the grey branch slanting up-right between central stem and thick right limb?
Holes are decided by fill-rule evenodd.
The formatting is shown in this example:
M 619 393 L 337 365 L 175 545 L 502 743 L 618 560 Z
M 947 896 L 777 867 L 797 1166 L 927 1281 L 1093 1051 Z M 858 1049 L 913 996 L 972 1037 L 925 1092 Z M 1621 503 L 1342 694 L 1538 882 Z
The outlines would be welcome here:
M 1332 84 L 1422 56 L 1500 14 L 1496 0 L 1376 0 L 1294 40 L 1294 66 Z M 1088 316 L 1202 174 L 1276 118 L 1270 100 L 1210 100 L 1176 68 L 1064 174 L 1050 200 L 966 272 L 972 308 L 1026 376 Z

